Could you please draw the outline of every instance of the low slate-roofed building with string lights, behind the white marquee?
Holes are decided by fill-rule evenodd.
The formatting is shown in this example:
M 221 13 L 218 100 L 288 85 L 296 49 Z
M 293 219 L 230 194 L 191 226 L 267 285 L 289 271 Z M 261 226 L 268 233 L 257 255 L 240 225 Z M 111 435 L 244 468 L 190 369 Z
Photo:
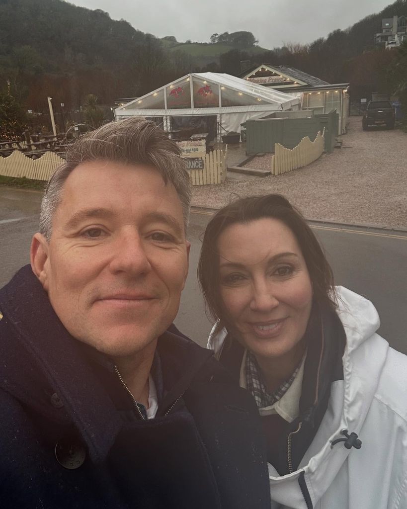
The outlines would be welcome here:
M 271 64 L 254 65 L 239 77 L 288 94 L 301 92 L 301 109 L 311 109 L 314 114 L 327 114 L 335 109 L 339 115 L 338 134 L 346 132 L 349 83 L 331 84 L 294 67 Z

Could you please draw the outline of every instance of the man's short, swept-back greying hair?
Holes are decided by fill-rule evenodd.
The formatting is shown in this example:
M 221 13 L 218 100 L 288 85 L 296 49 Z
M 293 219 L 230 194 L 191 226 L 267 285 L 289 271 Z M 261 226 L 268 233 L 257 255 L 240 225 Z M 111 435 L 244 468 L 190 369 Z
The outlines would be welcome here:
M 191 181 L 180 148 L 154 122 L 129 118 L 110 122 L 84 134 L 68 149 L 66 161 L 55 169 L 49 179 L 41 203 L 40 232 L 48 241 L 66 179 L 79 164 L 97 160 L 146 164 L 157 168 L 164 184 L 170 182 L 176 188 L 187 228 Z

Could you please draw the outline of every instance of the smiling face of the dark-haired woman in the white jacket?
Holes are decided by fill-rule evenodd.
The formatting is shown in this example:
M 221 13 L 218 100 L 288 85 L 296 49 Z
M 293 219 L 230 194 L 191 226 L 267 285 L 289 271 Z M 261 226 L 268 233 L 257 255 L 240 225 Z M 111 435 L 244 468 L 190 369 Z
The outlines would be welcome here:
M 218 250 L 220 295 L 238 340 L 256 357 L 295 349 L 311 312 L 312 284 L 292 231 L 272 218 L 232 224 Z

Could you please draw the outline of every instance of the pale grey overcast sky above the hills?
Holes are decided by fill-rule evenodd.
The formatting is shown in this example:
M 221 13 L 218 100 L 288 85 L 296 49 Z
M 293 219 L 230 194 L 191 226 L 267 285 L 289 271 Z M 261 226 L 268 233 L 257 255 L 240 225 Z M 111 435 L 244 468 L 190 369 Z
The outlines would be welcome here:
M 70 0 L 102 9 L 157 37 L 209 42 L 214 33 L 247 30 L 268 49 L 309 43 L 380 12 L 388 0 Z M 397 13 L 394 13 L 397 14 Z M 379 29 L 379 27 L 378 27 Z M 373 34 L 372 34 L 373 37 Z

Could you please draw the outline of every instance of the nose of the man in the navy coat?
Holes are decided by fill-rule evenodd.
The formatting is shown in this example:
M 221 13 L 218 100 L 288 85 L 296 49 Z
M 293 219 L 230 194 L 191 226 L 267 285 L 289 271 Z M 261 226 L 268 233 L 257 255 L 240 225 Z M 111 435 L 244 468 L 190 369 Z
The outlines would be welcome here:
M 127 231 L 115 239 L 111 252 L 110 270 L 140 275 L 151 270 L 146 246 L 137 231 Z

